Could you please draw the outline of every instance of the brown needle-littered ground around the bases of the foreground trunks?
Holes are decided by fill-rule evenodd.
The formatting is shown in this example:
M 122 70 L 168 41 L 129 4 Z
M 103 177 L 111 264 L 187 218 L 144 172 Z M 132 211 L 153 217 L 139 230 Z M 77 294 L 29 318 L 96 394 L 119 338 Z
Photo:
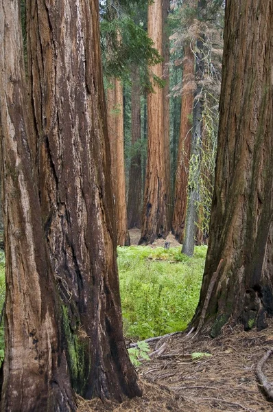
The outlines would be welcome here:
M 131 244 L 137 244 L 139 231 L 131 232 Z M 171 236 L 167 241 L 171 247 L 178 245 Z M 164 246 L 164 242 L 157 240 L 152 246 Z M 151 352 L 157 353 L 137 368 L 142 398 L 122 404 L 79 398 L 78 411 L 273 411 L 256 377 L 257 363 L 273 347 L 273 320 L 268 324 L 261 332 L 245 332 L 241 325 L 227 325 L 216 339 L 206 334 L 187 337 L 185 332 L 178 332 L 152 341 Z M 273 358 L 265 363 L 263 372 L 273 382 Z

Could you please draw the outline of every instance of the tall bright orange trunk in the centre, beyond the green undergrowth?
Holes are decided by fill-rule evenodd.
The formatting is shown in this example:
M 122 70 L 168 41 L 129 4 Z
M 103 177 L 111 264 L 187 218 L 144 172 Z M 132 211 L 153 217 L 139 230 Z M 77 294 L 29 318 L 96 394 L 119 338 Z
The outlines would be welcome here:
M 154 47 L 162 53 L 162 2 L 148 5 L 148 35 Z M 154 75 L 162 77 L 162 64 L 151 67 Z M 166 238 L 169 231 L 167 218 L 167 190 L 165 172 L 165 140 L 163 133 L 163 89 L 154 86 L 147 95 L 148 148 L 145 193 L 142 211 L 141 240 L 139 244 Z

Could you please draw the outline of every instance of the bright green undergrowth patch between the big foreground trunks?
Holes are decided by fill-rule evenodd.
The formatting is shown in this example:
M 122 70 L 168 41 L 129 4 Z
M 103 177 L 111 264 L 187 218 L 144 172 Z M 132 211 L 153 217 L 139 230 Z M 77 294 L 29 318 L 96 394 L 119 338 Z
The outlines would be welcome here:
M 147 339 L 184 330 L 198 304 L 206 246 L 193 258 L 181 248 L 118 248 L 124 334 Z

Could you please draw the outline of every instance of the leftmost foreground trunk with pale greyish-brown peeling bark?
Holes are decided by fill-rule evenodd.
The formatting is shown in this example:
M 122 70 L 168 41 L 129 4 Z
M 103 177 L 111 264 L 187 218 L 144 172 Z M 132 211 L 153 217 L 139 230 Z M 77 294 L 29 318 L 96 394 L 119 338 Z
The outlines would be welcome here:
M 75 411 L 60 299 L 47 256 L 30 141 L 19 1 L 0 1 L 0 102 L 5 220 L 5 360 L 1 411 Z

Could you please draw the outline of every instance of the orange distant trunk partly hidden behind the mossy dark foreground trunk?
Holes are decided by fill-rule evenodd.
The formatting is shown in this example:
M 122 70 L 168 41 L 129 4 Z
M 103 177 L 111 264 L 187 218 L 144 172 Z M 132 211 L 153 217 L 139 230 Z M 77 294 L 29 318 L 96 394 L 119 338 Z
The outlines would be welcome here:
M 108 133 L 110 138 L 111 179 L 114 196 L 117 244 L 129 246 L 127 230 L 126 185 L 123 142 L 123 87 L 117 78 L 111 80 L 112 88 L 107 92 Z

